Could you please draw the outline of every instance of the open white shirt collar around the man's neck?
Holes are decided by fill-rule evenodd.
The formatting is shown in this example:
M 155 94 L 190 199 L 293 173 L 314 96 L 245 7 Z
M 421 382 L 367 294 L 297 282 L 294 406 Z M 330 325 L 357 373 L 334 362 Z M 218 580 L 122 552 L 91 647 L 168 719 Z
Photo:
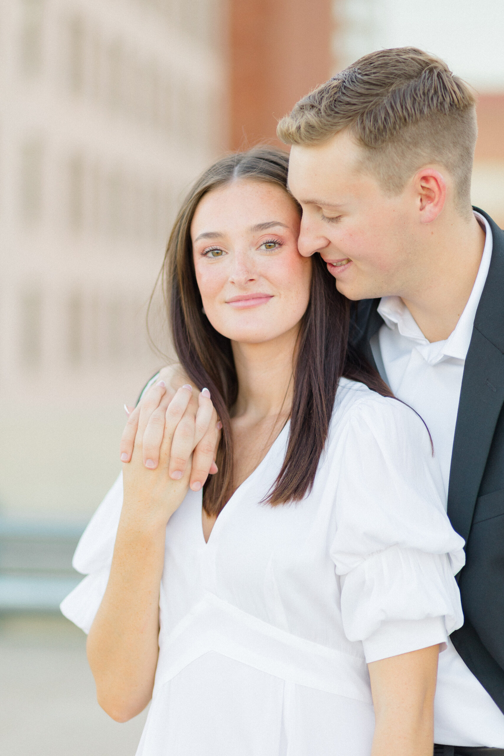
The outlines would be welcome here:
M 413 315 L 398 296 L 384 296 L 380 299 L 378 312 L 382 316 L 385 324 L 391 330 L 397 330 L 401 336 L 415 342 L 416 349 L 423 355 L 425 360 L 434 364 L 446 357 L 454 357 L 459 360 L 465 360 L 469 349 L 469 343 L 472 337 L 472 326 L 475 321 L 476 310 L 481 299 L 481 293 L 487 280 L 488 268 L 490 268 L 490 259 L 492 257 L 492 229 L 483 215 L 475 212 L 481 226 L 483 226 L 486 237 L 481 257 L 480 267 L 474 286 L 472 287 L 471 296 L 465 305 L 464 311 L 459 318 L 456 327 L 444 341 L 430 343 L 419 326 L 416 324 Z

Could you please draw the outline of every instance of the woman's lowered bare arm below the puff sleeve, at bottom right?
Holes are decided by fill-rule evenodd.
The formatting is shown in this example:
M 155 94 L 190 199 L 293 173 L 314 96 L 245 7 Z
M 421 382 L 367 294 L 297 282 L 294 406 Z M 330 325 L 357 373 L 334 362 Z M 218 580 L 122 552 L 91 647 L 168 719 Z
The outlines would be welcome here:
M 439 646 L 370 662 L 372 756 L 432 756 Z

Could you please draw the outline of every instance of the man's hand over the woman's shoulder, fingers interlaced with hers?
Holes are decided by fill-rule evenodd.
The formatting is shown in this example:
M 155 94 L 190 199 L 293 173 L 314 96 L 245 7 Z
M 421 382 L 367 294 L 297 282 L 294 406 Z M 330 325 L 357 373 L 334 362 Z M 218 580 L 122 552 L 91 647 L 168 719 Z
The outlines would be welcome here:
M 156 469 L 165 430 L 165 412 L 181 386 L 189 386 L 192 396 L 173 437 L 169 476 L 173 480 L 181 479 L 192 454 L 190 488 L 199 491 L 209 474 L 217 472 L 214 460 L 221 424 L 218 423 L 208 389 L 203 389 L 200 394 L 196 386 L 190 385 L 178 364 L 163 367 L 156 383 L 147 389 L 137 407 L 129 414 L 121 438 L 121 461 L 131 460 L 139 429 L 143 438 L 144 465 Z

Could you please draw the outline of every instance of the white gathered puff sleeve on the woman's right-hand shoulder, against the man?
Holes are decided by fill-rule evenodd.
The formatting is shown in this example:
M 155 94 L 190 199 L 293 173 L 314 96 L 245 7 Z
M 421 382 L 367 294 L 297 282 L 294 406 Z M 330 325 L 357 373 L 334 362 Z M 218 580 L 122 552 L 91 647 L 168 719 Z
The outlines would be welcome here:
M 348 640 L 362 641 L 367 662 L 446 642 L 463 623 L 464 541 L 425 425 L 373 395 L 354 407 L 343 447 L 331 556 Z

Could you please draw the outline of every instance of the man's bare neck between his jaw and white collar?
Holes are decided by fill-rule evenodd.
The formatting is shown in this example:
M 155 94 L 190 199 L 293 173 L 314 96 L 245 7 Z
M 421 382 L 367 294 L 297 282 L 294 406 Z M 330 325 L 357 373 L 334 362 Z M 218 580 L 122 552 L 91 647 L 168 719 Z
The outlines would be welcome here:
M 459 322 L 481 263 L 485 231 L 471 222 L 445 224 L 431 243 L 431 265 L 422 286 L 404 304 L 429 342 L 444 341 Z

